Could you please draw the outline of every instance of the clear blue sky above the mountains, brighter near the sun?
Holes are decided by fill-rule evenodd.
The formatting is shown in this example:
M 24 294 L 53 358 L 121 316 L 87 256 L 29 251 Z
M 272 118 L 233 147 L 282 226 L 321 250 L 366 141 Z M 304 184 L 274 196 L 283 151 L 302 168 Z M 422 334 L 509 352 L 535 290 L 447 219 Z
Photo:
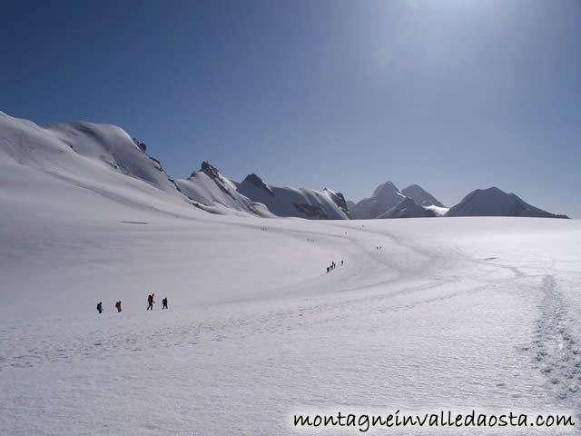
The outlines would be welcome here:
M 173 177 L 581 218 L 579 0 L 3 0 L 0 38 L 0 110 L 120 125 Z

